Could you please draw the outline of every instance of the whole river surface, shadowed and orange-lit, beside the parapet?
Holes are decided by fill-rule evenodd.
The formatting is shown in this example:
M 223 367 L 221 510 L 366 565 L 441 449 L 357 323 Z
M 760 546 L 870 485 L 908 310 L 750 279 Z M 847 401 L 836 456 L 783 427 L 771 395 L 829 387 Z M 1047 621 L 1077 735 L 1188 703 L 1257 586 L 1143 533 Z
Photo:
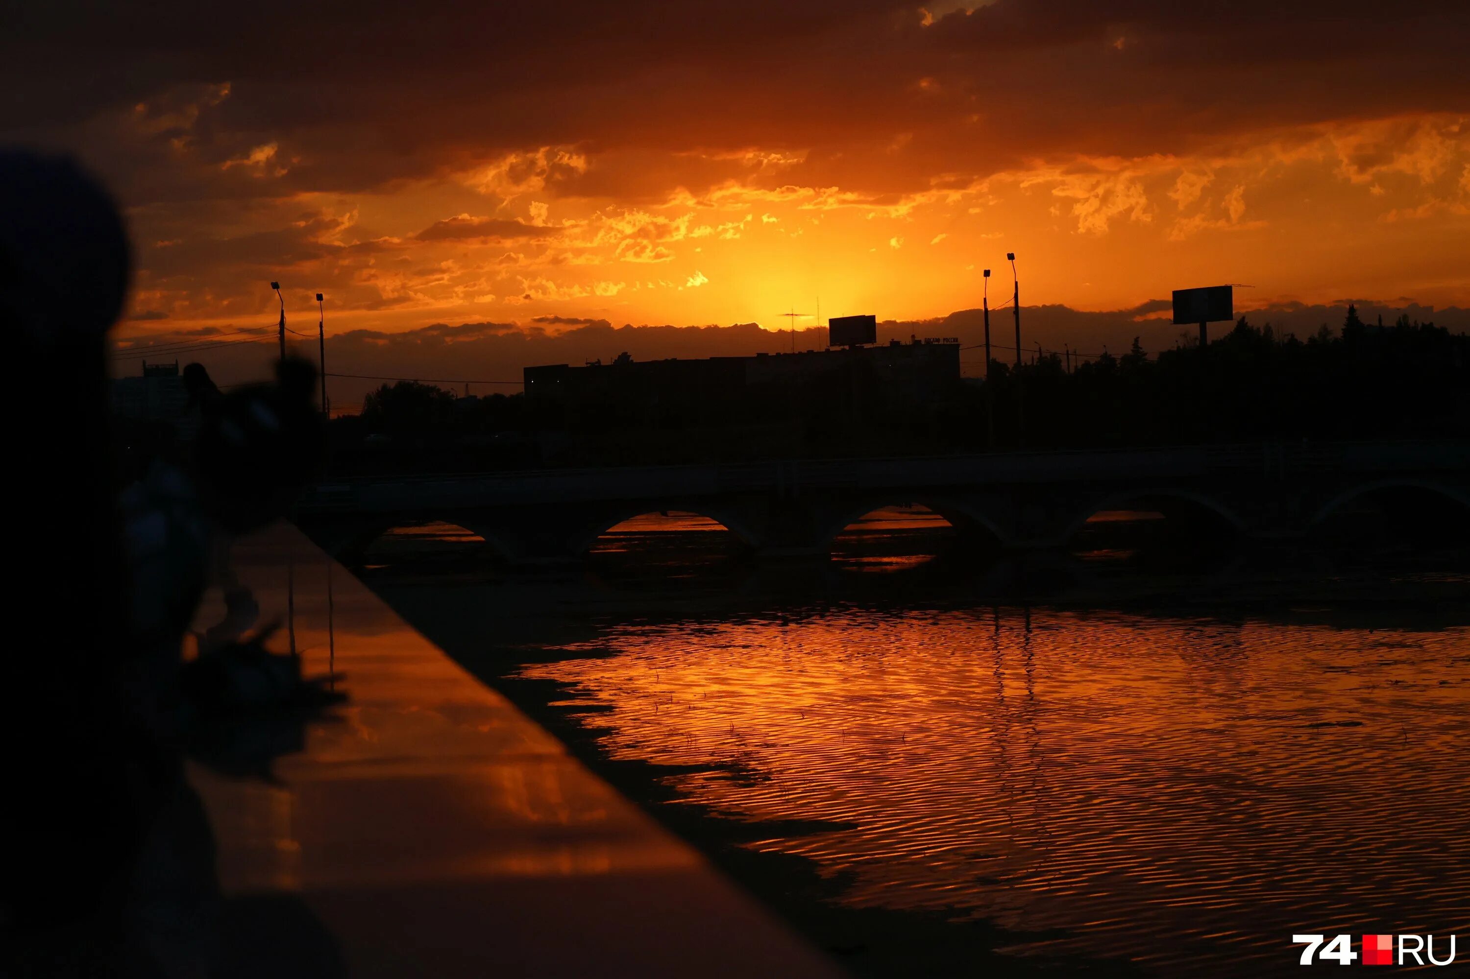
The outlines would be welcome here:
M 875 514 L 831 567 L 754 584 L 689 557 L 719 551 L 707 529 L 626 525 L 603 572 L 535 585 L 375 587 L 594 767 L 637 763 L 639 801 L 738 845 L 757 895 L 761 858 L 798 858 L 814 900 L 947 922 L 1017 972 L 1276 973 L 1295 933 L 1470 938 L 1458 570 L 1225 560 L 1160 597 L 1101 539 L 1073 559 L 1102 585 L 1019 598 L 936 559 L 932 514 Z M 701 839 L 711 820 L 744 835 Z M 825 944 L 898 975 L 883 941 Z

